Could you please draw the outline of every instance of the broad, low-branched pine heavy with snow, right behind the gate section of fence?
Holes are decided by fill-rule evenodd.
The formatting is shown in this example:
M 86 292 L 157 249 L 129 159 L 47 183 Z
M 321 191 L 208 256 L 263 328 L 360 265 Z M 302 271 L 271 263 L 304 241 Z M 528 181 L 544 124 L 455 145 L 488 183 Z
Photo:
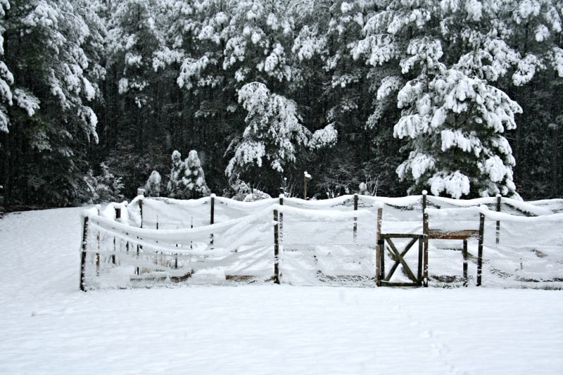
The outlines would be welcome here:
M 407 138 L 413 151 L 397 173 L 412 181 L 409 193 L 429 188 L 453 198 L 516 194 L 515 160 L 502 133 L 516 127 L 514 114 L 521 108 L 507 94 L 449 69 L 409 82 L 398 98 L 405 110 L 394 134 Z

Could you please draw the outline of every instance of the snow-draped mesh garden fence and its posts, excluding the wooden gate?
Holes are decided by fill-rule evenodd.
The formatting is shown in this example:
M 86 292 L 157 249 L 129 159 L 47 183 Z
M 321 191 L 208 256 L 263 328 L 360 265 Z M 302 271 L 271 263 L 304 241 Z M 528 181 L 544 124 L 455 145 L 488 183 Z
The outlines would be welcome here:
M 453 223 L 479 226 L 479 215 L 486 217 L 482 285 L 563 286 L 563 200 L 355 195 L 253 203 L 215 196 L 192 201 L 139 196 L 128 204 L 87 210 L 80 288 L 234 281 L 374 286 L 378 236 L 424 235 L 423 212 L 432 229 L 444 230 Z M 470 242 L 469 284 L 478 272 L 477 245 Z M 460 250 L 459 241 L 429 241 L 430 285 L 462 282 L 462 257 L 452 250 Z M 417 262 L 409 251 L 405 262 Z M 403 262 L 388 247 L 384 257 L 397 264 L 391 281 L 404 281 Z

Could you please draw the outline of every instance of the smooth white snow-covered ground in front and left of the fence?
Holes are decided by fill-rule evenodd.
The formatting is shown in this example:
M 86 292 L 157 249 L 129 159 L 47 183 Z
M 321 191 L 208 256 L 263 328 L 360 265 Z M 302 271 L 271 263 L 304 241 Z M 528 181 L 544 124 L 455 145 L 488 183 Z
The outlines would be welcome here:
M 80 208 L 0 219 L 0 374 L 561 374 L 563 291 L 80 292 Z

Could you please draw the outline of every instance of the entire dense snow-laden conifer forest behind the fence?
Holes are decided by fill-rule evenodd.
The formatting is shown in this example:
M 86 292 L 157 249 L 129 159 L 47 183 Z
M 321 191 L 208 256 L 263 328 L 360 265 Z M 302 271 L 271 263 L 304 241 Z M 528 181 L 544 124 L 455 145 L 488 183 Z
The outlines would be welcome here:
M 0 0 L 0 196 L 563 198 L 563 0 Z

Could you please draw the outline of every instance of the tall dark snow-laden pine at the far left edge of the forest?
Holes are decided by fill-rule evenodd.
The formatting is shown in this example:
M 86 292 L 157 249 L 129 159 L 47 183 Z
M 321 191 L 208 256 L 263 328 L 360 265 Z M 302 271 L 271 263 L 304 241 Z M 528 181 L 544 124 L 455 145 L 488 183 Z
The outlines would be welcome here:
M 3 59 L 13 76 L 13 106 L 4 101 L 2 110 L 9 133 L 0 137 L 6 204 L 64 205 L 80 196 L 84 150 L 98 140 L 91 106 L 99 95 L 94 70 L 101 69 L 93 23 L 82 11 L 80 1 L 11 1 L 3 18 Z

